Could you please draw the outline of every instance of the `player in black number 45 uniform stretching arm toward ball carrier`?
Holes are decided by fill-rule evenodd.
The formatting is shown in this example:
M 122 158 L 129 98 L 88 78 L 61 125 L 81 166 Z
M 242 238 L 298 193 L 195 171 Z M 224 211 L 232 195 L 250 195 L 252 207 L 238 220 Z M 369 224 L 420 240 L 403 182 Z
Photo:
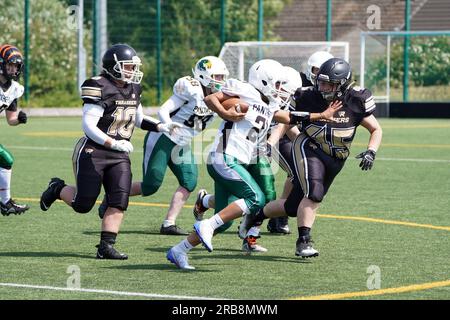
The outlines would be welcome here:
M 350 154 L 356 128 L 362 125 L 370 133 L 367 150 L 356 156 L 361 159 L 362 170 L 372 168 L 381 144 L 382 129 L 373 115 L 376 106 L 372 93 L 354 85 L 351 76 L 351 67 L 345 60 L 332 58 L 320 67 L 314 87 L 297 90 L 293 99 L 296 110 L 321 112 L 332 101 L 341 101 L 343 107 L 334 114 L 332 122 L 305 119 L 300 123 L 301 134 L 292 149 L 295 172 L 291 193 L 286 200 L 269 203 L 243 223 L 249 229 L 268 217 L 297 217 L 299 237 L 295 254 L 300 257 L 319 255 L 312 246 L 311 228 L 317 208 Z

